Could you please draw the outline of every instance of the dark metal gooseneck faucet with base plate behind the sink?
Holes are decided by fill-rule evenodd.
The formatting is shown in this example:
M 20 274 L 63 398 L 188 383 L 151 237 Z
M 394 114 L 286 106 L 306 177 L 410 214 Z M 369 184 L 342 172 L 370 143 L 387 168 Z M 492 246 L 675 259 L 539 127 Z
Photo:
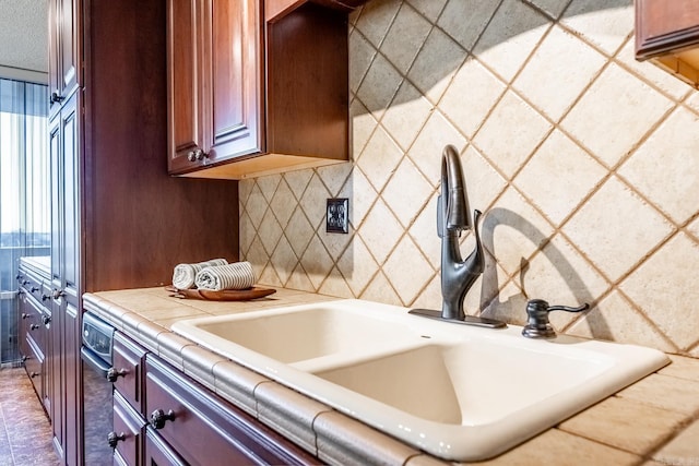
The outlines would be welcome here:
M 469 217 L 469 201 L 459 152 L 447 145 L 441 158 L 441 195 L 437 201 L 437 235 L 441 238 L 441 312 L 413 309 L 410 312 L 431 319 L 489 327 L 506 326 L 494 319 L 466 315 L 463 300 L 475 280 L 483 274 L 485 259 L 478 235 L 481 212 L 474 211 L 473 223 Z M 475 249 L 461 259 L 459 238 L 462 230 L 473 229 Z

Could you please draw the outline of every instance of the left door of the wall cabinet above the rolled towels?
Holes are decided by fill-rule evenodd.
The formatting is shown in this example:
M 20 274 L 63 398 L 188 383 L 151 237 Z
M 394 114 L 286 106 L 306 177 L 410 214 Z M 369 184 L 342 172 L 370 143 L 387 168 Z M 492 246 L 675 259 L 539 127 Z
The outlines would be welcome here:
M 168 169 L 189 167 L 189 154 L 205 147 L 201 47 L 205 32 L 200 24 L 201 1 L 167 2 L 167 116 Z

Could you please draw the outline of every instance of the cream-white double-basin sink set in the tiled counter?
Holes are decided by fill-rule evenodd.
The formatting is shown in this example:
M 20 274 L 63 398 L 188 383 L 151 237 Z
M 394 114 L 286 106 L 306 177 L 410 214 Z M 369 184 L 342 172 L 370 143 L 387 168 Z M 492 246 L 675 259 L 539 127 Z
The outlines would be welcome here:
M 341 300 L 180 321 L 173 330 L 436 456 L 477 461 L 668 362 L 661 351 L 529 339 Z M 524 312 L 524 310 L 522 310 Z

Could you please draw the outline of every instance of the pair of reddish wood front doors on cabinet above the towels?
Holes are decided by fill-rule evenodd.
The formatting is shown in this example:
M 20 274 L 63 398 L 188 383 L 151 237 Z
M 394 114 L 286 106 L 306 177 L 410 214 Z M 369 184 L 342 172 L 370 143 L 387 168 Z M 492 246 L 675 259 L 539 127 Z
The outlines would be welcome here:
M 170 174 L 259 153 L 259 1 L 168 0 L 167 8 Z

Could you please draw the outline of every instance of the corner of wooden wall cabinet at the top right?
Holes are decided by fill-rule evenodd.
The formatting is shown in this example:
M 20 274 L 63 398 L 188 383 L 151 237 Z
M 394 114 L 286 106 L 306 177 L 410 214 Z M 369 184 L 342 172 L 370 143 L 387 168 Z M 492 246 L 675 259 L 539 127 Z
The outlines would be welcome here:
M 636 0 L 636 58 L 699 88 L 699 2 Z

